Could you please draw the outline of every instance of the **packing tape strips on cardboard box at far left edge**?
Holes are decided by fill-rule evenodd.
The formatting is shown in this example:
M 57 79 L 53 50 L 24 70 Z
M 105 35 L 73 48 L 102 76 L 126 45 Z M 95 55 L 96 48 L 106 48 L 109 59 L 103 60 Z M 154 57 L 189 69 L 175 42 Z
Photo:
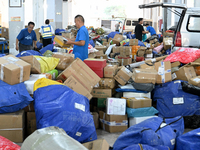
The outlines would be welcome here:
M 14 64 L 16 66 L 18 66 L 20 68 L 20 78 L 19 78 L 19 82 L 23 82 L 23 72 L 24 72 L 24 68 L 23 66 L 16 64 L 15 62 L 19 61 L 20 59 L 15 59 L 13 57 L 2 57 L 3 59 L 9 61 L 8 63 L 2 64 L 1 65 L 1 80 L 3 81 L 3 77 L 4 77 L 4 72 L 3 72 L 3 68 L 4 66 L 8 65 L 8 64 Z

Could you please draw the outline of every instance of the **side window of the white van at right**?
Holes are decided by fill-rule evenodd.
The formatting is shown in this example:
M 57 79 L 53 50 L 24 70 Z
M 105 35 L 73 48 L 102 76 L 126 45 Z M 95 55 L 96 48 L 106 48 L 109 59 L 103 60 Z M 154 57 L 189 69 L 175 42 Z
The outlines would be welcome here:
M 190 32 L 200 32 L 200 16 L 189 16 L 187 30 Z

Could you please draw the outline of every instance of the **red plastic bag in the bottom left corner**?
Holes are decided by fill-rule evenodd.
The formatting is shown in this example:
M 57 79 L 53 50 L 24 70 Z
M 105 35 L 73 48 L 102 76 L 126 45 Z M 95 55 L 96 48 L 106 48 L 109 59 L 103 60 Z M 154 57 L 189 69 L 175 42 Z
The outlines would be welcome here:
M 0 136 L 0 150 L 20 150 L 20 146 Z

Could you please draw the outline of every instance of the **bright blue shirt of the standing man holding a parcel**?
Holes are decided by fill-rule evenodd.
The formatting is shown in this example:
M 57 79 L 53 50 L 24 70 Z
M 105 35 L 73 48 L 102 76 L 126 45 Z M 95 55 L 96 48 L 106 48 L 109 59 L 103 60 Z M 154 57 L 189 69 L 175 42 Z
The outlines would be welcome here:
M 82 26 L 76 35 L 75 42 L 78 41 L 85 41 L 84 46 L 78 46 L 74 45 L 73 53 L 75 55 L 75 58 L 80 58 L 81 60 L 88 58 L 88 43 L 89 43 L 89 34 L 87 31 L 87 28 L 85 26 Z

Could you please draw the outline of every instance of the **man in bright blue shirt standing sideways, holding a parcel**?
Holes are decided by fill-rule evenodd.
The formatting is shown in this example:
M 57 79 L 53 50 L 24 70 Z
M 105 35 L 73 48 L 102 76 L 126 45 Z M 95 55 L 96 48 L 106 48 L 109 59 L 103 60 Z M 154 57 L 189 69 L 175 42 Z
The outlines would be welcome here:
M 75 58 L 80 58 L 81 60 L 88 58 L 88 43 L 89 43 L 89 34 L 88 30 L 84 25 L 84 18 L 81 15 L 75 17 L 75 24 L 78 28 L 76 35 L 76 40 L 67 39 L 65 44 L 74 44 L 73 54 Z

